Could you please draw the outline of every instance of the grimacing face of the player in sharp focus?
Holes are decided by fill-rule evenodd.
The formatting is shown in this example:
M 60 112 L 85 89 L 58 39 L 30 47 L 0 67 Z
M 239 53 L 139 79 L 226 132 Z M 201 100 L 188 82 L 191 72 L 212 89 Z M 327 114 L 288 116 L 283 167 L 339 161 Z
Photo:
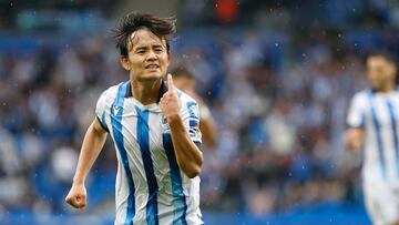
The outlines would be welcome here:
M 155 81 L 164 78 L 170 61 L 166 41 L 147 29 L 131 34 L 129 58 L 121 58 L 123 68 L 129 70 L 131 79 L 136 81 Z

